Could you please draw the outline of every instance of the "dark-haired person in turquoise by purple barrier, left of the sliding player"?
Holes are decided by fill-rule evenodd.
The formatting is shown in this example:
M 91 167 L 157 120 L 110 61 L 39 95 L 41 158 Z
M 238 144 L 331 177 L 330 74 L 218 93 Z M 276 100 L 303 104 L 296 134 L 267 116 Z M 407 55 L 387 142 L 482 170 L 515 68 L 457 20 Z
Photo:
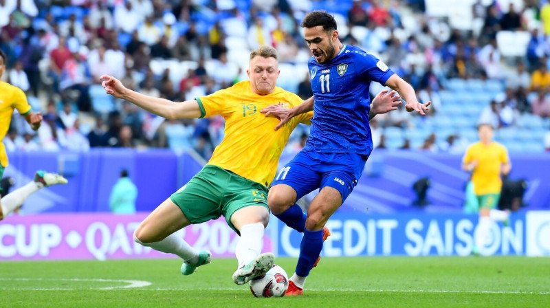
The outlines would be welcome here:
M 109 197 L 109 208 L 114 214 L 134 214 L 137 187 L 128 177 L 126 169 L 120 170 L 120 178 L 116 181 Z

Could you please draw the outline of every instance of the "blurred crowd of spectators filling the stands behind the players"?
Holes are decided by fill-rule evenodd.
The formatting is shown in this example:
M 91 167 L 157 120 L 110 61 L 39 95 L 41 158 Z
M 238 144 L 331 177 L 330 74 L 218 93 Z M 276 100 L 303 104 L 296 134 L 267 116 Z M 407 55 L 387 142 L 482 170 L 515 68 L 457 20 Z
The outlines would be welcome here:
M 94 100 L 99 77 L 115 76 L 146 95 L 190 100 L 246 79 L 243 51 L 265 44 L 276 47 L 281 63 L 307 72 L 309 50 L 299 23 L 318 8 L 334 11 L 343 43 L 382 58 L 421 102 L 432 101 L 432 115 L 445 104 L 439 93 L 448 80 L 458 78 L 503 85 L 480 122 L 498 128 L 513 126 L 525 113 L 549 118 L 550 4 L 513 3 L 474 2 L 478 26 L 459 30 L 447 18 L 426 14 L 422 0 L 0 0 L 0 49 L 9 58 L 4 78 L 44 114 L 36 135 L 14 115 L 4 142 L 8 151 L 193 148 L 208 159 L 223 138 L 222 118 L 164 120 L 121 100 L 100 109 Z M 525 55 L 500 53 L 502 31 L 529 33 Z M 300 97 L 311 96 L 307 74 L 293 85 L 289 90 Z M 401 109 L 377 118 L 375 146 L 384 147 L 382 129 L 412 127 L 413 116 Z M 307 132 L 300 126 L 289 151 L 303 146 Z M 434 133 L 420 148 L 462 151 L 466 142 L 457 139 L 450 135 L 446 145 L 437 144 Z

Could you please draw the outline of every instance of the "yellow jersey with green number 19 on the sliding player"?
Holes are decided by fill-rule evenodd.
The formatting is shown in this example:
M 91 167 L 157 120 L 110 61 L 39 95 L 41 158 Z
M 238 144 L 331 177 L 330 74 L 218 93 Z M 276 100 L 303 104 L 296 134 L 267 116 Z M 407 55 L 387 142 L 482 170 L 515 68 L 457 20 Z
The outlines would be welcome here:
M 225 137 L 215 148 L 208 164 L 230 170 L 241 177 L 269 186 L 277 171 L 278 160 L 290 133 L 298 123 L 311 124 L 313 111 L 297 115 L 274 131 L 279 120 L 266 118 L 261 109 L 270 104 L 292 108 L 303 100 L 296 94 L 276 87 L 272 94 L 252 92 L 250 80 L 197 98 L 201 118 L 222 115 Z

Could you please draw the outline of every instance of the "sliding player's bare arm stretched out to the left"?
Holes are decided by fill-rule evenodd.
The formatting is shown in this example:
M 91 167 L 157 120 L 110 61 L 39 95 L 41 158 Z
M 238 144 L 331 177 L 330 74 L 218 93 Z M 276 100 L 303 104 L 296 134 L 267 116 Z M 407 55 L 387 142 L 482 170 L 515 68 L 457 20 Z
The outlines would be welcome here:
M 111 94 L 115 98 L 122 98 L 146 111 L 160 115 L 168 120 L 179 118 L 200 118 L 201 108 L 196 100 L 186 100 L 185 102 L 173 102 L 164 98 L 155 98 L 137 93 L 131 89 L 127 89 L 122 85 L 120 80 L 113 76 L 103 75 L 100 77 L 102 86 L 107 94 Z

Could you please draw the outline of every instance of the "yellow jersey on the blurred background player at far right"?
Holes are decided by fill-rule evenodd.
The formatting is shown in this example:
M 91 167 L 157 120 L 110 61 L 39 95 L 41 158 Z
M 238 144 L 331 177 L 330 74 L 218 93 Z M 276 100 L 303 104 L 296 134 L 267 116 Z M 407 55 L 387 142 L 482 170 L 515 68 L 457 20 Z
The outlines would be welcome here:
M 510 161 L 506 148 L 498 142 L 489 145 L 476 142 L 467 148 L 463 157 L 464 164 L 473 161 L 478 162 L 472 173 L 476 195 L 500 194 L 503 186 L 500 170 L 503 164 Z

